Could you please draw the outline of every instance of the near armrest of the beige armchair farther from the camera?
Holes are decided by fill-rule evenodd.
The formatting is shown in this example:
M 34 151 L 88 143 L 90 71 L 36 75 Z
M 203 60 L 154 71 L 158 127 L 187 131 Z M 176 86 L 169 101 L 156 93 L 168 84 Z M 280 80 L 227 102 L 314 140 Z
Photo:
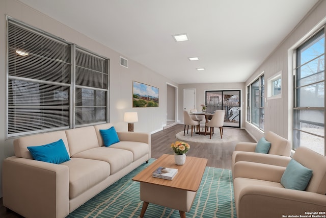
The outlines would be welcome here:
M 232 170 L 234 168 L 234 164 L 238 161 L 249 161 L 286 167 L 290 160 L 291 157 L 280 155 L 235 151 L 232 154 Z

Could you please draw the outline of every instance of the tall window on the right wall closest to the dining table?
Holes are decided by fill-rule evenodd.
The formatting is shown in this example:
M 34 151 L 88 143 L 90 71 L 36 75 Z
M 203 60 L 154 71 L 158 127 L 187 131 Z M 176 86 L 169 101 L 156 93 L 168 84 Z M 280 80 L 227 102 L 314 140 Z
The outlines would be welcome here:
M 264 75 L 247 87 L 247 122 L 264 130 Z

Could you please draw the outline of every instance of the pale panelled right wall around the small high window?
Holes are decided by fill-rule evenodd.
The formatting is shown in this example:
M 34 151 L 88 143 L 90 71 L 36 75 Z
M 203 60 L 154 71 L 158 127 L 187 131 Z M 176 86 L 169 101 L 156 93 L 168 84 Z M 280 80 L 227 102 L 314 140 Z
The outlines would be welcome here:
M 269 55 L 269 57 L 258 67 L 253 75 L 246 81 L 246 86 L 253 82 L 261 72 L 265 75 L 265 90 L 267 90 L 267 79 L 282 70 L 282 98 L 267 100 L 265 104 L 265 132 L 273 131 L 282 137 L 292 140 L 292 83 L 291 83 L 291 63 L 289 64 L 288 53 L 297 46 L 298 42 L 304 40 L 309 32 L 316 26 L 325 23 L 326 17 L 326 1 L 320 1 L 314 9 L 296 26 L 296 28 L 283 40 L 277 49 Z M 289 79 L 290 78 L 290 79 Z M 267 98 L 267 91 L 265 91 Z M 247 122 L 244 128 L 259 140 L 263 136 L 263 132 L 253 127 Z

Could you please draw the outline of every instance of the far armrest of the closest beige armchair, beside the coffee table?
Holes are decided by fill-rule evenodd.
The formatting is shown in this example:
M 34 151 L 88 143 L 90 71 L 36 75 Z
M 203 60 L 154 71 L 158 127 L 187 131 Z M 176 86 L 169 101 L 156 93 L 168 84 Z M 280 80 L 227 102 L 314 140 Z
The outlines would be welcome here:
M 238 161 L 234 164 L 233 179 L 237 177 L 280 182 L 286 167 Z

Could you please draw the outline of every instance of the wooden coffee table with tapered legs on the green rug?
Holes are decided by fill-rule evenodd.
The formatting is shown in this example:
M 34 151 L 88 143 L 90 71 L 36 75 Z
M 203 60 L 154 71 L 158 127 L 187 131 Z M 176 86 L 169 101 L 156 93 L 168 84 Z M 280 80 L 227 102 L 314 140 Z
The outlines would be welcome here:
M 174 155 L 164 154 L 132 180 L 140 182 L 140 197 L 144 201 L 140 217 L 144 217 L 149 203 L 179 210 L 185 218 L 196 197 L 202 180 L 207 159 L 186 157 L 184 165 L 176 165 Z M 177 168 L 173 180 L 152 177 L 152 172 L 159 166 Z

